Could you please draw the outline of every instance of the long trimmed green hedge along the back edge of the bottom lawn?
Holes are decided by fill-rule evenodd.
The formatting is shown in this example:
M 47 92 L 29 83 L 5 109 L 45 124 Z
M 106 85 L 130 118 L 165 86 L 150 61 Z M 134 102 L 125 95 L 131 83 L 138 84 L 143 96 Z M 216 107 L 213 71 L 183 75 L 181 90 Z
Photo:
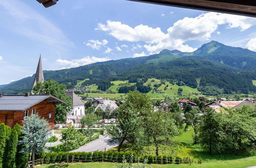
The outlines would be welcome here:
M 135 162 L 144 162 L 147 160 L 147 163 L 158 163 L 158 164 L 170 164 L 170 163 L 189 163 L 189 157 L 180 158 L 173 156 L 152 156 L 152 155 L 144 155 L 139 156 L 135 152 L 70 152 L 69 153 L 69 161 L 70 162 L 122 162 L 123 158 L 126 159 L 127 162 L 131 162 L 133 155 L 133 163 Z M 44 154 L 44 163 L 54 163 L 54 162 L 66 162 L 67 161 L 67 152 L 51 152 Z

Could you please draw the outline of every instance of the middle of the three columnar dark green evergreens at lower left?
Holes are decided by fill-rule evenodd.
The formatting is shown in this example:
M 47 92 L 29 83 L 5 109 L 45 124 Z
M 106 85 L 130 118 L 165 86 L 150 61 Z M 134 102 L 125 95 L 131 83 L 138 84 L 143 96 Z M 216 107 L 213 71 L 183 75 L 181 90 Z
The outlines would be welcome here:
M 16 151 L 18 143 L 18 134 L 15 129 L 12 129 L 11 135 L 8 142 L 8 152 L 6 156 L 5 167 L 15 168 L 16 167 Z

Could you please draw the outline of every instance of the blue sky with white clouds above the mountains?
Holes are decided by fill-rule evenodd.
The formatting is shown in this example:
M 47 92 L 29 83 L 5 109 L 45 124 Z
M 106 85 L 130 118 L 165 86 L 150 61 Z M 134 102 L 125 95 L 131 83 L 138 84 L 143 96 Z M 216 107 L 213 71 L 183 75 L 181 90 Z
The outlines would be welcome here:
M 0 85 L 44 70 L 192 52 L 215 40 L 256 51 L 256 18 L 131 2 L 0 0 Z

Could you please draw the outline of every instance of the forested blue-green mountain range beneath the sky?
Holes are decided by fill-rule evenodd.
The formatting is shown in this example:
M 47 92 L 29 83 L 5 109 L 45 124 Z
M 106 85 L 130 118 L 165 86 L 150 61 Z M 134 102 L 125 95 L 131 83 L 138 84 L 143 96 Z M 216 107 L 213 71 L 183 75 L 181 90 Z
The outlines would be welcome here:
M 44 71 L 45 80 L 53 79 L 71 89 L 77 80 L 83 86 L 100 81 L 155 77 L 179 82 L 201 91 L 211 87 L 224 93 L 255 93 L 256 52 L 211 41 L 194 52 L 164 49 L 147 57 L 94 63 L 76 68 Z M 22 94 L 32 88 L 34 75 L 0 86 L 4 94 Z

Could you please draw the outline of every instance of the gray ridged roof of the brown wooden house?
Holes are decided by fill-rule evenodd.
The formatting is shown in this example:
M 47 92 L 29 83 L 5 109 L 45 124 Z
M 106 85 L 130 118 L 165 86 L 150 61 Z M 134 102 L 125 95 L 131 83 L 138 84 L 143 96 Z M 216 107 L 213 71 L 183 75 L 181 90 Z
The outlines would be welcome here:
M 52 99 L 56 103 L 65 103 L 52 95 L 4 95 L 0 98 L 0 110 L 23 111 L 45 99 Z

